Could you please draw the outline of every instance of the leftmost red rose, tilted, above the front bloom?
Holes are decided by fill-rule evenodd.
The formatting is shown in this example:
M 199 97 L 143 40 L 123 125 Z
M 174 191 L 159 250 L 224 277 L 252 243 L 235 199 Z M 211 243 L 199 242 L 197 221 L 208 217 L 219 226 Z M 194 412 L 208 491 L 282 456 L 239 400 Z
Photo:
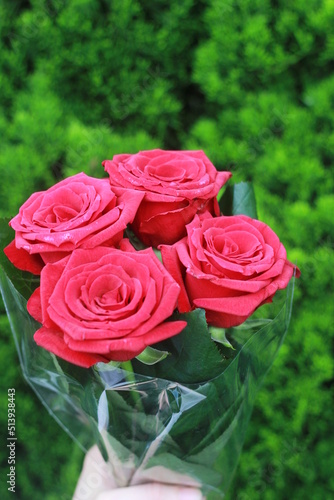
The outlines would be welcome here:
M 10 221 L 15 240 L 5 248 L 19 269 L 39 274 L 75 248 L 114 246 L 136 214 L 144 194 L 117 197 L 108 179 L 81 173 L 34 193 Z

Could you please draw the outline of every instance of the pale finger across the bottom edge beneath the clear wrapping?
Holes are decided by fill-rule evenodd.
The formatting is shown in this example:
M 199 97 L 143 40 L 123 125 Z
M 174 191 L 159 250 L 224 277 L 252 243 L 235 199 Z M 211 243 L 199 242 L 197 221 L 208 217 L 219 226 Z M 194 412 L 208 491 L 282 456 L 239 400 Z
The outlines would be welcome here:
M 117 488 L 100 493 L 96 500 L 204 500 L 194 488 L 166 486 L 160 483 L 141 484 L 129 488 Z

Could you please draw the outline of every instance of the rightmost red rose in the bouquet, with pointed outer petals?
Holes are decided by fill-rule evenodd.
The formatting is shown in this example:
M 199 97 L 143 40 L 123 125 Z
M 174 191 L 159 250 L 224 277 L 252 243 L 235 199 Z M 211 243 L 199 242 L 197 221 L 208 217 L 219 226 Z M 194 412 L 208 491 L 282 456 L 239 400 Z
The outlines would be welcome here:
M 239 325 L 293 275 L 284 246 L 258 220 L 196 216 L 187 233 L 175 245 L 161 247 L 163 263 L 181 286 L 179 310 L 203 308 L 209 324 Z

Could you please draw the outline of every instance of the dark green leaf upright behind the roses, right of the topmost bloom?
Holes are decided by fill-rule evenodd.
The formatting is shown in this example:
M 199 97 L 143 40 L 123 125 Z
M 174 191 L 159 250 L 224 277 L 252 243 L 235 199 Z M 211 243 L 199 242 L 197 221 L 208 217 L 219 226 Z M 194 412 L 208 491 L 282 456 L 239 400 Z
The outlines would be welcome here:
M 224 215 L 247 215 L 257 219 L 255 193 L 250 182 L 227 186 L 219 206 Z

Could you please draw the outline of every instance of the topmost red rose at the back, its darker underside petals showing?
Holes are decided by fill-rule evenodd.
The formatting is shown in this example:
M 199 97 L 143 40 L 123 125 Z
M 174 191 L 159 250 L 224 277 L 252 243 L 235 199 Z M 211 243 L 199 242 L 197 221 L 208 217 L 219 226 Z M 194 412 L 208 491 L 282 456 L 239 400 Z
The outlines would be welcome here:
M 133 230 L 147 246 L 172 244 L 186 235 L 195 214 L 219 215 L 216 195 L 231 177 L 218 172 L 203 151 L 141 151 L 105 160 L 116 193 L 145 192 Z

